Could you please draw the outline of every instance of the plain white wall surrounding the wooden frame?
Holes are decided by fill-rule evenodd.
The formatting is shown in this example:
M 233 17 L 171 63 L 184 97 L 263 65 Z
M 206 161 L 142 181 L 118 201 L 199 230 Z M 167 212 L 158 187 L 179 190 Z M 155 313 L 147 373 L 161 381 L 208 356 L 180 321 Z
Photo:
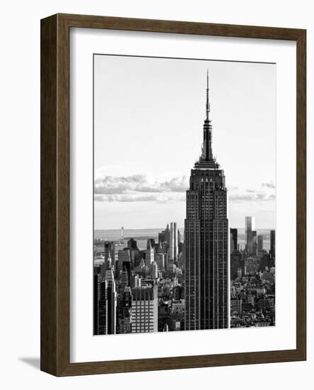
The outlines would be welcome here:
M 39 371 L 40 354 L 40 18 L 85 13 L 133 18 L 308 29 L 308 275 L 313 274 L 312 2 L 11 1 L 1 7 L 1 322 L 4 389 L 296 389 L 313 382 L 313 283 L 308 277 L 308 362 L 56 379 Z M 312 153 L 311 153 L 312 152 Z M 308 386 L 306 386 L 308 384 Z

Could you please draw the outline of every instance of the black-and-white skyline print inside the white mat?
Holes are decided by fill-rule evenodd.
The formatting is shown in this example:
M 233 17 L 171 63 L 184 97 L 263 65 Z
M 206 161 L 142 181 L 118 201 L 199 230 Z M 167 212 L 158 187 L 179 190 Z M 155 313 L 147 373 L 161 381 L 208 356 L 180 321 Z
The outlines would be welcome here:
M 94 335 L 274 326 L 276 64 L 94 55 Z

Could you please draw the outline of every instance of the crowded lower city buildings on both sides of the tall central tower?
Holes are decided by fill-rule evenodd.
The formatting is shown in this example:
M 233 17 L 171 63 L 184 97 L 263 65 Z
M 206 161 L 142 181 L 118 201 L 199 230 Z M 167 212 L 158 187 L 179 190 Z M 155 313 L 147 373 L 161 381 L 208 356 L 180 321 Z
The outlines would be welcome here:
M 275 231 L 257 235 L 246 217 L 245 245 L 230 228 L 230 328 L 275 325 Z M 252 228 L 253 227 L 253 228 Z M 184 243 L 176 223 L 158 238 L 94 241 L 94 334 L 185 329 Z

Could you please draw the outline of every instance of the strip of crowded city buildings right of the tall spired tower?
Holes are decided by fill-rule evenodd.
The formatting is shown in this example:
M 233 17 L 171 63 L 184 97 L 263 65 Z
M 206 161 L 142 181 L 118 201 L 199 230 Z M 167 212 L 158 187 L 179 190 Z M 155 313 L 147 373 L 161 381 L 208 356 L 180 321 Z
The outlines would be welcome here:
M 254 230 L 254 218 L 245 217 L 244 250 L 237 229 L 230 229 L 230 328 L 275 325 L 275 230 L 270 248 Z

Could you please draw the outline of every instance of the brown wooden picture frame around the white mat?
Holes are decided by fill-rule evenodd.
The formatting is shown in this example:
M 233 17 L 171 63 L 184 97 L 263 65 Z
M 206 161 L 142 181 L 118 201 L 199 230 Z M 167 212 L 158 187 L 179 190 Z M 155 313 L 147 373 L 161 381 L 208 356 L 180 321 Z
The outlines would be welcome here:
M 69 362 L 69 29 L 99 28 L 296 41 L 296 349 Z M 306 359 L 306 31 L 57 14 L 41 21 L 41 369 L 56 376 Z

